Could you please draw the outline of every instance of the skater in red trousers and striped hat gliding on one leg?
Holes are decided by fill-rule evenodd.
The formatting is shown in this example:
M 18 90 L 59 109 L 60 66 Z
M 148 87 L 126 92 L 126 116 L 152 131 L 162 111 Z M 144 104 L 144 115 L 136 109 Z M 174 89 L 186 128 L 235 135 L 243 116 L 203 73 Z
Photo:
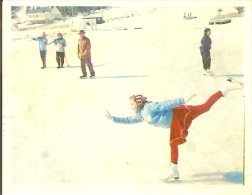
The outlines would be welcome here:
M 187 99 L 178 98 L 152 102 L 147 101 L 147 98 L 143 95 L 137 94 L 129 98 L 130 106 L 135 112 L 135 116 L 126 118 L 115 117 L 107 111 L 106 117 L 115 123 L 133 124 L 144 121 L 156 127 L 170 128 L 171 163 L 167 175 L 162 180 L 178 179 L 178 145 L 186 142 L 188 128 L 192 121 L 209 111 L 214 103 L 221 97 L 226 96 L 229 91 L 242 88 L 243 86 L 238 83 L 228 82 L 222 90 L 214 93 L 204 104 L 197 106 L 185 105 L 195 95 Z

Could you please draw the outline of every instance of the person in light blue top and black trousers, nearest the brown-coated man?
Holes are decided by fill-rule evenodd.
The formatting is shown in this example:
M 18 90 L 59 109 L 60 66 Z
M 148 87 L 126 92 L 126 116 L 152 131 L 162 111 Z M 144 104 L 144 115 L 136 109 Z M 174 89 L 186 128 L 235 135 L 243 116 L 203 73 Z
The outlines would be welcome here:
M 60 67 L 63 68 L 66 40 L 62 37 L 61 33 L 58 33 L 57 37 L 58 37 L 58 39 L 55 39 L 55 41 L 54 41 L 54 45 L 57 46 L 57 49 L 56 49 L 56 61 L 58 63 L 57 68 L 60 68 Z

